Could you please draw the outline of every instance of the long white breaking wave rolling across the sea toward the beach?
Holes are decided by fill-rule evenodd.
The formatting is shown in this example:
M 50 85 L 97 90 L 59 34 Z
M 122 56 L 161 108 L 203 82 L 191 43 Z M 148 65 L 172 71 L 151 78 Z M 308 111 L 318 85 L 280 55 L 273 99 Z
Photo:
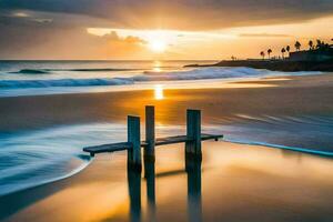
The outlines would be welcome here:
M 92 69 L 90 69 L 92 70 Z M 313 73 L 313 72 L 311 72 Z M 211 80 L 231 78 L 260 78 L 269 75 L 302 75 L 309 72 L 276 72 L 252 68 L 203 68 L 171 72 L 144 72 L 128 78 L 97 78 L 97 79 L 57 79 L 57 80 L 2 80 L 0 88 L 49 88 L 49 87 L 97 87 L 97 85 L 123 85 L 135 82 L 153 81 L 183 81 L 183 80 Z

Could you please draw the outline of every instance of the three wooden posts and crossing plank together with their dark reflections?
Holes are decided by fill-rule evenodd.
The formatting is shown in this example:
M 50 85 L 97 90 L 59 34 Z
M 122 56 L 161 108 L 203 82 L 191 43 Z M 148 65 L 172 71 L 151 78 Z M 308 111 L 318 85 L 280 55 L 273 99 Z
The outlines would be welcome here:
M 219 140 L 222 134 L 201 133 L 201 111 L 186 111 L 186 134 L 167 138 L 155 138 L 155 110 L 152 105 L 145 107 L 145 140 L 141 141 L 140 118 L 128 117 L 128 141 L 112 144 L 83 148 L 90 155 L 104 152 L 128 151 L 128 185 L 130 198 L 130 221 L 141 222 L 141 148 L 144 157 L 144 179 L 147 181 L 148 221 L 157 220 L 155 201 L 155 147 L 184 143 L 185 172 L 188 174 L 188 212 L 189 221 L 201 222 L 201 141 Z

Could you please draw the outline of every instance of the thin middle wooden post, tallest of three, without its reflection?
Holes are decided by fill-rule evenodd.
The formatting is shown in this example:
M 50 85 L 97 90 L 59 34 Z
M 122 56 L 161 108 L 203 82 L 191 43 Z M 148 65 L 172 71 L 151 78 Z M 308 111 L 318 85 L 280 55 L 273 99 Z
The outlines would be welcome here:
M 145 107 L 145 142 L 144 160 L 155 161 L 155 108 L 153 105 Z

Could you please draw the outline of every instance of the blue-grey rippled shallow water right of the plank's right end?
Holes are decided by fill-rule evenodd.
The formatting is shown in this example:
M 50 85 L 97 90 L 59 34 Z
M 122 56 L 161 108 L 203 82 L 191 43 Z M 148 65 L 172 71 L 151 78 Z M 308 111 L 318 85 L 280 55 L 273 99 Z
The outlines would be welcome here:
M 333 155 L 332 115 L 238 115 L 234 121 L 222 127 L 228 141 Z

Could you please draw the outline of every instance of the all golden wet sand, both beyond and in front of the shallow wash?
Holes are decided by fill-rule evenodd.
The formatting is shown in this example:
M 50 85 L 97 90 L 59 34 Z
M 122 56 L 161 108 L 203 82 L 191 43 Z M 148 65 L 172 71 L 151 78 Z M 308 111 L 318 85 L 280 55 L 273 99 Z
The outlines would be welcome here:
M 332 117 L 332 101 L 331 73 L 164 90 L 162 99 L 153 90 L 1 98 L 0 129 L 11 133 L 63 124 L 124 123 L 127 114 L 143 117 L 145 104 L 155 105 L 159 125 L 184 124 L 188 108 L 201 109 L 206 125 L 235 122 L 240 115 Z M 127 171 L 125 152 L 98 155 L 73 176 L 1 196 L 0 220 L 331 220 L 333 163 L 329 158 L 204 142 L 202 163 L 185 171 L 183 149 L 180 144 L 158 150 L 153 183 L 152 178 Z M 154 191 L 154 201 L 148 190 Z

